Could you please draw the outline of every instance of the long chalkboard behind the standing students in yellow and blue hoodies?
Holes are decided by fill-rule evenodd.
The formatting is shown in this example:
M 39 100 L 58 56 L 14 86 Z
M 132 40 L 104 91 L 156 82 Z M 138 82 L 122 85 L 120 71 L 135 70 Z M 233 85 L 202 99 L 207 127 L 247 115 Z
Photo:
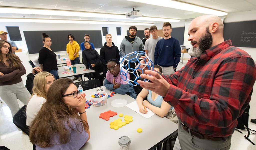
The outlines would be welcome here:
M 75 37 L 75 41 L 79 46 L 84 42 L 84 35 L 90 35 L 90 42 L 93 43 L 95 48 L 102 47 L 101 30 L 90 31 L 23 31 L 29 54 L 36 54 L 40 51 L 42 46 L 42 33 L 46 33 L 51 37 L 52 45 L 51 49 L 56 51 L 66 51 L 66 46 L 69 42 L 68 35 L 72 34 Z M 81 48 L 80 48 L 81 49 Z

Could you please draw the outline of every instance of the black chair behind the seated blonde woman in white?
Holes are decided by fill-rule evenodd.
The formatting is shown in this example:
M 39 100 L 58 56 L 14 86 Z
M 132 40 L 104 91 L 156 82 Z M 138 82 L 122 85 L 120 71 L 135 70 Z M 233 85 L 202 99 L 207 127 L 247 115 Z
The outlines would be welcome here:
M 29 126 L 26 125 L 27 121 L 27 105 L 22 106 L 18 112 L 13 116 L 13 123 L 29 136 Z M 33 144 L 33 150 L 36 149 L 36 145 Z

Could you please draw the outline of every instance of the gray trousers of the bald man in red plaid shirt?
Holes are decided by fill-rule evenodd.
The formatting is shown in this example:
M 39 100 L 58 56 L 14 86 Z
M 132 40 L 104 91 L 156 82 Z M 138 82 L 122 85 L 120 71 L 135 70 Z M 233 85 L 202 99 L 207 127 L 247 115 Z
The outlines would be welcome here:
M 200 139 L 185 131 L 180 120 L 178 120 L 178 139 L 182 150 L 229 150 L 231 145 L 231 135 L 226 142 L 224 140 L 211 141 Z

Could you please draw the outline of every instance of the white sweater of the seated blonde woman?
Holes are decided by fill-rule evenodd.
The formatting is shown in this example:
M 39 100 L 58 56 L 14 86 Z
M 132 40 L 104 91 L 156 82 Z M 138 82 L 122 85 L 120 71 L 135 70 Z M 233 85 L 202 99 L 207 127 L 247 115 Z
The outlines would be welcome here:
M 32 96 L 27 105 L 27 125 L 30 126 L 32 121 L 35 119 L 39 110 L 41 109 L 43 103 L 46 99 L 43 97 L 38 97 L 36 94 Z

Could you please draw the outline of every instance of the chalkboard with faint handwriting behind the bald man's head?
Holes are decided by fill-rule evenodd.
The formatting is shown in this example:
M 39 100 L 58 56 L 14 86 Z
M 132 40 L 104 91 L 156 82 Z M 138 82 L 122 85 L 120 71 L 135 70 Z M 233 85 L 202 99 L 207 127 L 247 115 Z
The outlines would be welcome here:
M 224 40 L 236 47 L 256 48 L 256 20 L 224 23 Z

